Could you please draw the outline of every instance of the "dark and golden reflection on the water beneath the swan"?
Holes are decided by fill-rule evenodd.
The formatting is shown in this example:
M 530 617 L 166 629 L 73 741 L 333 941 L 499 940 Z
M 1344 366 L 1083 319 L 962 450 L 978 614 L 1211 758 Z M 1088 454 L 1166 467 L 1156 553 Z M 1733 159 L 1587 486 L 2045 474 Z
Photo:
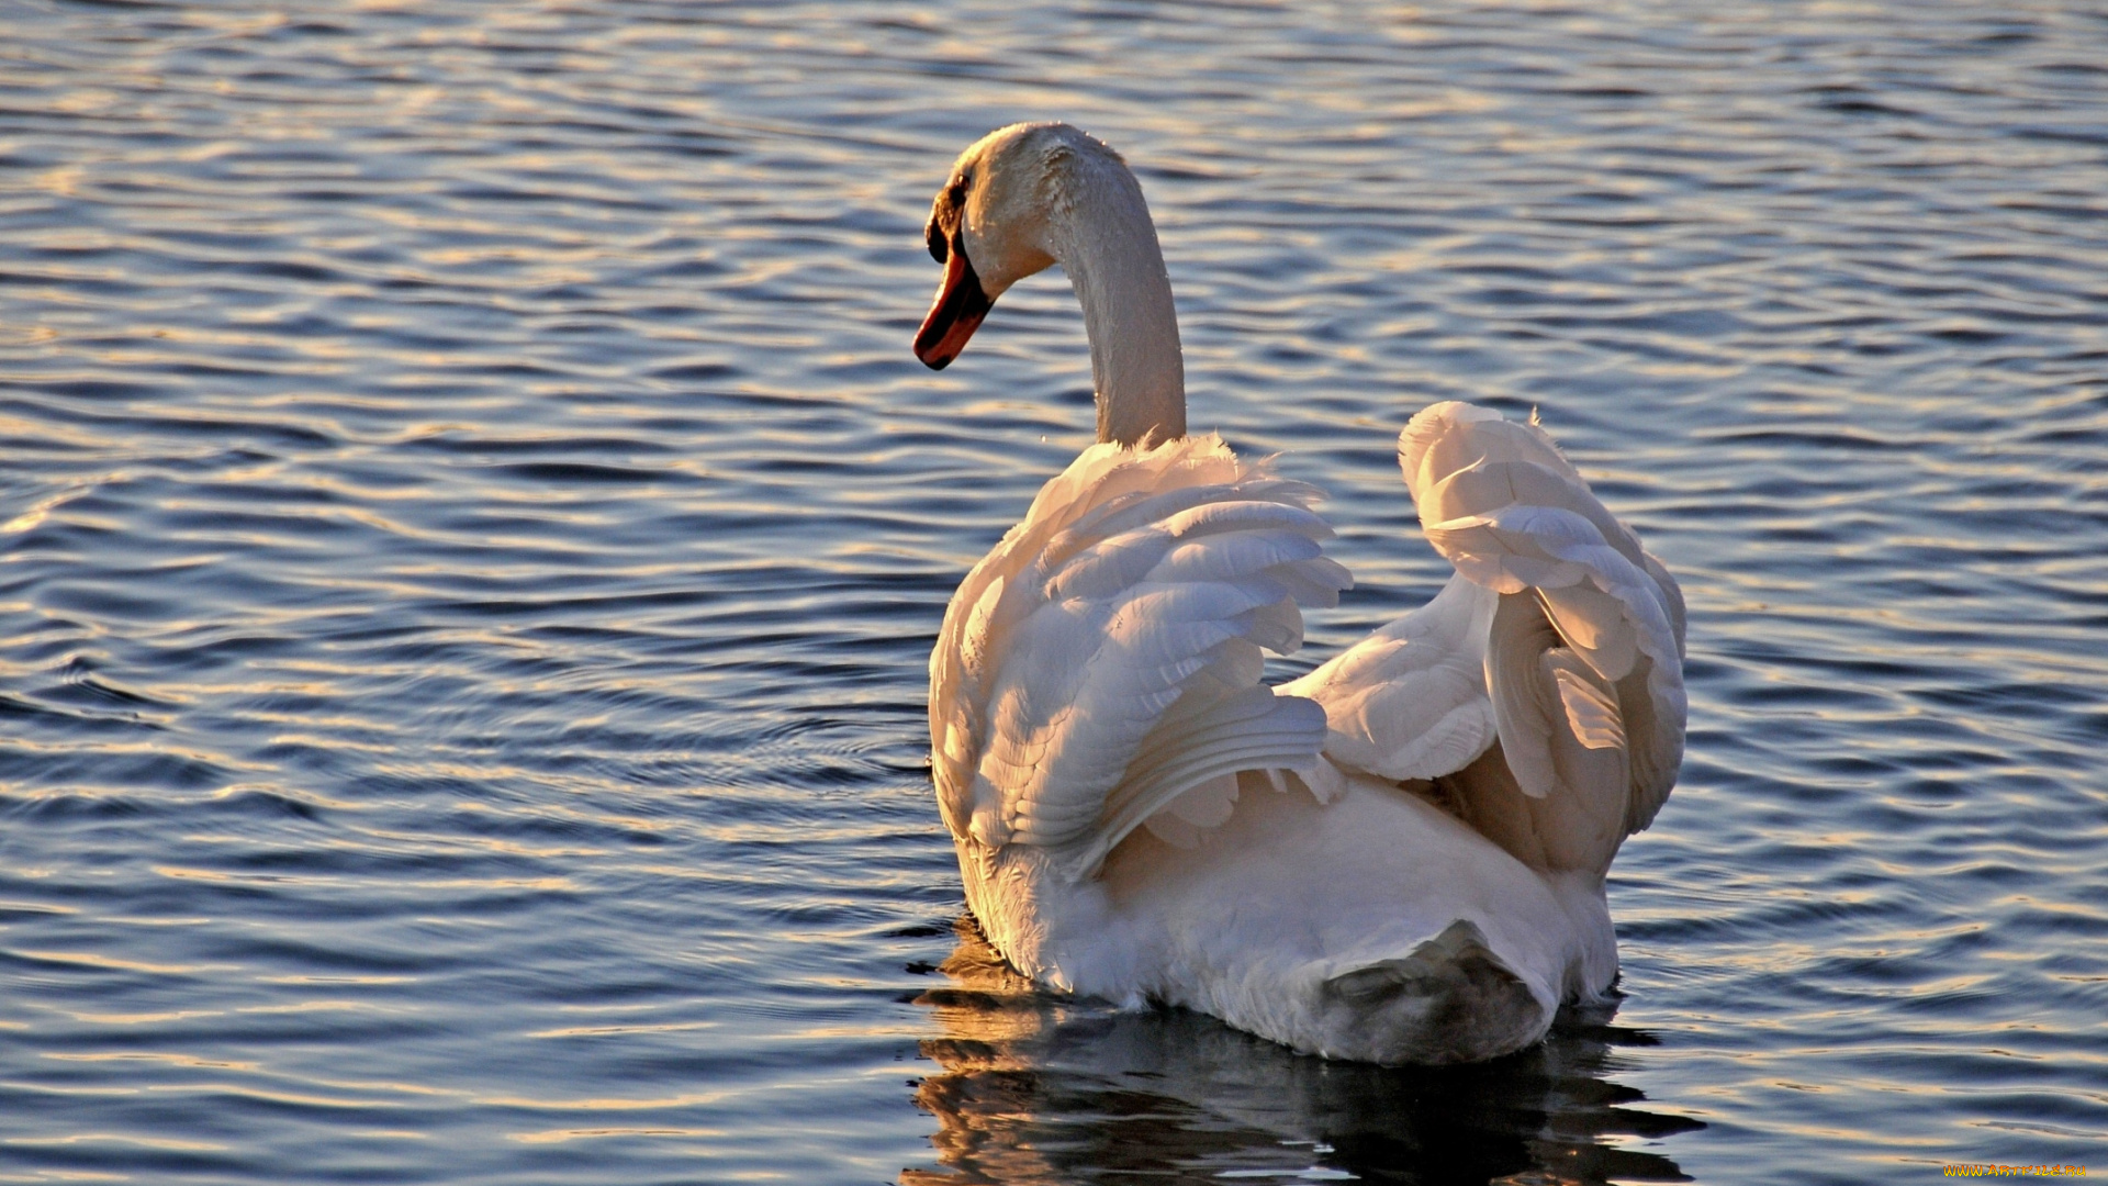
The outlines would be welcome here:
M 1703 1127 L 1611 1083 L 1615 1007 L 1560 1017 L 1492 1064 L 1395 1070 L 1294 1055 L 1187 1011 L 1117 1013 L 1035 992 L 970 918 L 917 1002 L 942 1038 L 915 1104 L 946 1171 L 906 1186 L 1069 1182 L 1686 1182 L 1640 1142 Z

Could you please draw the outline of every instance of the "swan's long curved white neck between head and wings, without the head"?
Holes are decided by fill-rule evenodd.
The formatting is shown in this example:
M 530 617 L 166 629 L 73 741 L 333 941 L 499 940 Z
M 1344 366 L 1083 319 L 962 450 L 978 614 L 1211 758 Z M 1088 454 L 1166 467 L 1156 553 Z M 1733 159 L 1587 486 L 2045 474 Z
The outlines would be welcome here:
M 1098 439 L 1185 437 L 1185 357 L 1157 228 L 1124 167 L 1079 171 L 1052 219 L 1054 257 L 1084 304 Z

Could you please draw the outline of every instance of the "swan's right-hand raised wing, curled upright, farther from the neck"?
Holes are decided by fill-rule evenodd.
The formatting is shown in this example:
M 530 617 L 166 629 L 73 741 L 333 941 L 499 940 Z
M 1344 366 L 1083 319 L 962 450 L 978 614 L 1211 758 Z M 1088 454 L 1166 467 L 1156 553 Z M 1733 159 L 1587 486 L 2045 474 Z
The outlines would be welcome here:
M 1398 462 L 1457 576 L 1284 692 L 1324 705 L 1334 768 L 1440 779 L 1520 859 L 1606 869 L 1682 762 L 1676 580 L 1535 424 L 1438 403 Z

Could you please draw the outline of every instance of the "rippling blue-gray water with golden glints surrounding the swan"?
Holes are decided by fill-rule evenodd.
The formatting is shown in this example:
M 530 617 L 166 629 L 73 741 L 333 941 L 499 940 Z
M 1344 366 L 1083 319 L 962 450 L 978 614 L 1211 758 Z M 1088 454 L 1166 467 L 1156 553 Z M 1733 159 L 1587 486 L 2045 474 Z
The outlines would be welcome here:
M 0 0 L 0 1180 L 2108 1171 L 2100 6 L 282 8 Z M 1615 1015 L 1383 1072 L 955 933 L 923 663 L 1090 378 L 1056 274 L 917 365 L 919 232 L 1050 116 L 1332 494 L 1282 671 L 1442 580 L 1436 399 L 1682 578 Z

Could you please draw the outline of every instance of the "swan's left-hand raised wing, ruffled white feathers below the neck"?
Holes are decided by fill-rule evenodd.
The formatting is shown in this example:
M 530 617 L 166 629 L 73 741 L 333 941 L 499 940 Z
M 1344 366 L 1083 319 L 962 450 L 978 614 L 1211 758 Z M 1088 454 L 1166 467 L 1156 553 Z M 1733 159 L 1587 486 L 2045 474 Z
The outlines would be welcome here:
M 1039 844 L 1084 878 L 1187 791 L 1315 762 L 1324 713 L 1258 684 L 1261 648 L 1303 644 L 1299 604 L 1351 585 L 1322 555 L 1315 498 L 1212 435 L 1094 445 L 1050 481 L 959 585 L 930 656 L 951 831 Z

